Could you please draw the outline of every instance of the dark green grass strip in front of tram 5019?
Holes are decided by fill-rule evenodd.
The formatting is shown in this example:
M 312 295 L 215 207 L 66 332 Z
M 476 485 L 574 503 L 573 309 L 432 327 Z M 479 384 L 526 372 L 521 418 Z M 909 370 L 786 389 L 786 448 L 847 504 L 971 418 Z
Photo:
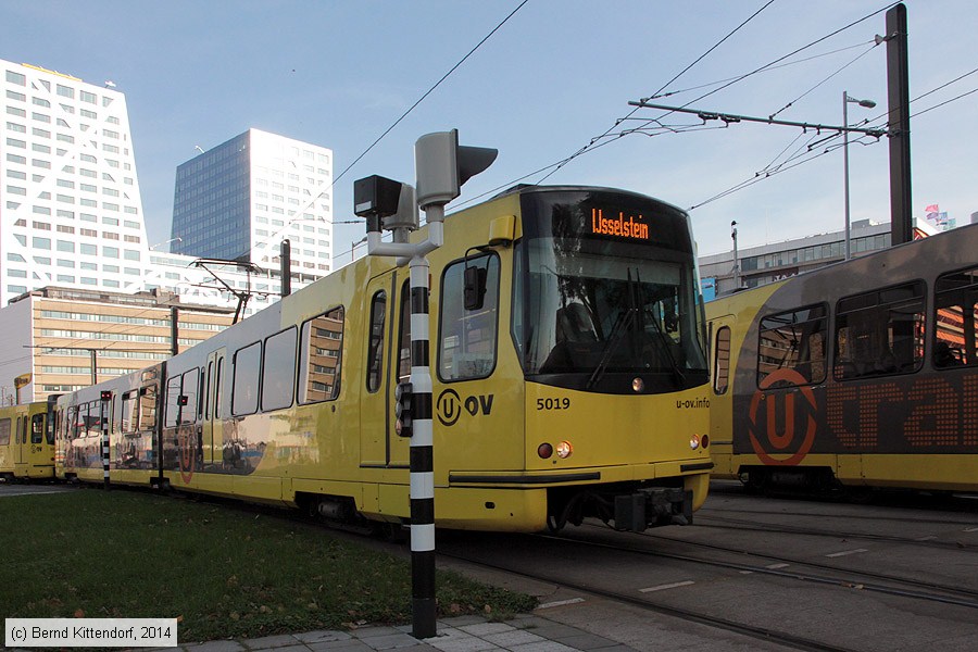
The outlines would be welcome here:
M 301 521 L 142 491 L 0 500 L 0 617 L 179 618 L 179 639 L 411 622 L 410 562 Z M 536 599 L 438 572 L 440 615 Z

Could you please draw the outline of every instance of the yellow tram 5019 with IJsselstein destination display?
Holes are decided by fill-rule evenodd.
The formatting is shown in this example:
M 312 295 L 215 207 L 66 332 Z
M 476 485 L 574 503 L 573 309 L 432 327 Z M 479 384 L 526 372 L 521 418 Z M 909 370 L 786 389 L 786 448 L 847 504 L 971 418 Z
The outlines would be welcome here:
M 517 187 L 447 217 L 429 259 L 436 525 L 690 523 L 713 464 L 688 216 L 622 190 Z M 469 310 L 472 267 L 484 296 Z M 59 477 L 102 480 L 108 418 L 112 482 L 406 523 L 392 406 L 409 297 L 393 260 L 362 259 L 165 363 L 62 396 Z

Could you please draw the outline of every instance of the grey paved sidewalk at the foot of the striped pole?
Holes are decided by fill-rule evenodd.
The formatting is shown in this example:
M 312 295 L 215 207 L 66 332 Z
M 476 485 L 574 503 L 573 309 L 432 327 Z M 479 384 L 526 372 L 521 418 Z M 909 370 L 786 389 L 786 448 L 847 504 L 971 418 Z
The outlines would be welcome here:
M 479 616 L 438 622 L 438 635 L 424 640 L 411 636 L 411 626 L 365 627 L 351 631 L 309 631 L 260 639 L 186 643 L 167 652 L 569 652 L 570 650 L 628 652 L 615 641 L 535 615 L 490 623 Z

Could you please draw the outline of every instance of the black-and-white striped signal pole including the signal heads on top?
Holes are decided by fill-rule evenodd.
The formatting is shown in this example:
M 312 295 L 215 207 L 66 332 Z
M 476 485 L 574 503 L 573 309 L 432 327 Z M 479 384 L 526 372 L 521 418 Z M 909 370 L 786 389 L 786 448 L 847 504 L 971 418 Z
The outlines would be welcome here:
M 431 638 L 435 600 L 435 432 L 431 421 L 431 367 L 428 317 L 427 255 L 444 242 L 444 205 L 459 197 L 469 177 L 489 167 L 497 151 L 460 147 L 459 131 L 418 138 L 414 147 L 417 195 L 406 185 L 379 176 L 353 184 L 354 213 L 367 220 L 367 253 L 396 256 L 411 276 L 411 378 L 397 391 L 398 435 L 411 438 L 411 593 L 412 635 Z M 425 212 L 427 238 L 409 243 L 406 231 L 418 227 L 417 208 Z M 393 242 L 380 241 L 384 228 Z

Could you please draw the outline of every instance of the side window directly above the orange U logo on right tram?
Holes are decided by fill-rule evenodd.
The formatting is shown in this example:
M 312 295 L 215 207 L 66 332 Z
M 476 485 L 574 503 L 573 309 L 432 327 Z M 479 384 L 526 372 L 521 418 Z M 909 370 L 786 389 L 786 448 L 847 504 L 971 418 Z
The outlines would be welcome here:
M 828 306 L 808 305 L 761 319 L 757 347 L 758 386 L 813 385 L 825 381 Z

